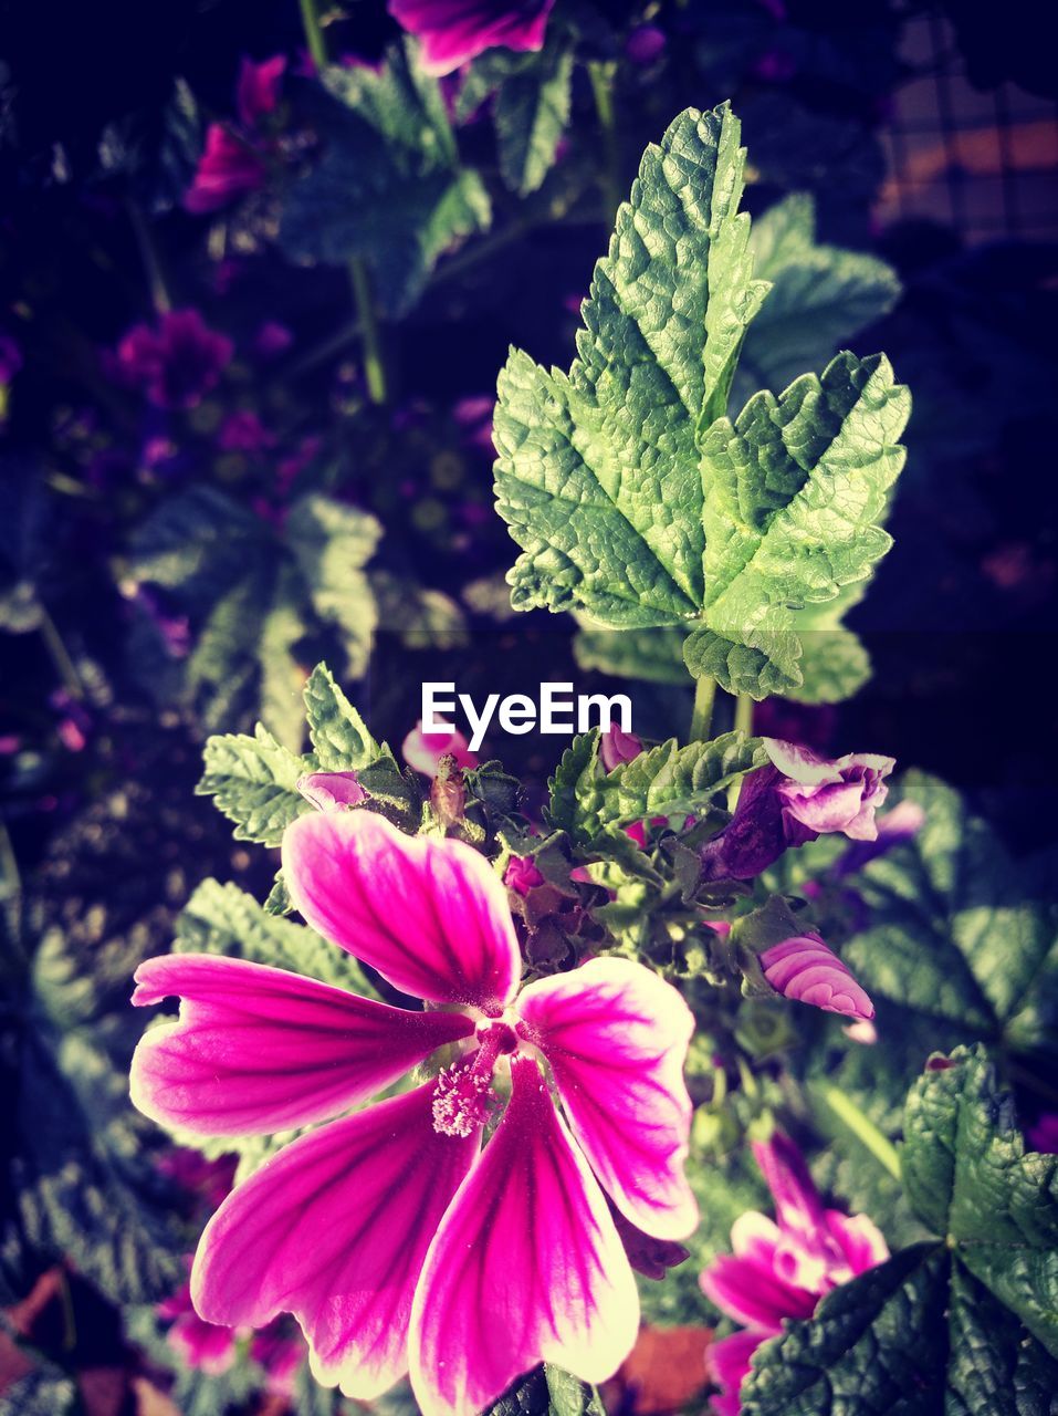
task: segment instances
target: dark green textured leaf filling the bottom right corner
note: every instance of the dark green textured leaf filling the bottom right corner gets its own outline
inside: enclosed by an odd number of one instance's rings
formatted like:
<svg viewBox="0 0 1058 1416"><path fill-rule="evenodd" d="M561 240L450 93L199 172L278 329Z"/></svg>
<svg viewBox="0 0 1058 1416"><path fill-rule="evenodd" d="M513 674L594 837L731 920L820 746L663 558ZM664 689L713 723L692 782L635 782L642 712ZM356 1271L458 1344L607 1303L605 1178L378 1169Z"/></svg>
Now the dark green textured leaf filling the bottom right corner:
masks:
<svg viewBox="0 0 1058 1416"><path fill-rule="evenodd" d="M983 1048L938 1065L908 1097L902 1167L939 1242L901 1250L810 1321L786 1324L754 1358L745 1416L1052 1412L1058 1161L1024 1154Z"/></svg>

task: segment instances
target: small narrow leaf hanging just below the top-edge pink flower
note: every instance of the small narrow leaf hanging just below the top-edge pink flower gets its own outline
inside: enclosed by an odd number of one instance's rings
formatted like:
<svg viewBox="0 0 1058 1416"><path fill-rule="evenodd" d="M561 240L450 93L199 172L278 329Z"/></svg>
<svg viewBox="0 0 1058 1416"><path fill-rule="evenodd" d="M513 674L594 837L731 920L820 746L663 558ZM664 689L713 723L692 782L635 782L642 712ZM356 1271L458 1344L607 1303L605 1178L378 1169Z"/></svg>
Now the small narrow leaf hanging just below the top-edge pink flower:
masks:
<svg viewBox="0 0 1058 1416"><path fill-rule="evenodd" d="M519 58L522 58L519 55ZM570 118L573 51L557 42L525 62L496 95L499 174L522 197L543 183Z"/></svg>

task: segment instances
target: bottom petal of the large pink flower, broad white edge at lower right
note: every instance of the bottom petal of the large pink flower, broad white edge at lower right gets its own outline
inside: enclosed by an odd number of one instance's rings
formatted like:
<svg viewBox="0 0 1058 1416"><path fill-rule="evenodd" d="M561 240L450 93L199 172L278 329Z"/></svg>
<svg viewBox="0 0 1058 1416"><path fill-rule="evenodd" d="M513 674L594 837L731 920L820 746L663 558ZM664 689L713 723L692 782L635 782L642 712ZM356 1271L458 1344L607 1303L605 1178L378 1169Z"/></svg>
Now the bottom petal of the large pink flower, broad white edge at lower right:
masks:
<svg viewBox="0 0 1058 1416"><path fill-rule="evenodd" d="M632 1270L603 1191L530 1058L495 1136L430 1246L412 1311L423 1416L474 1416L521 1372L612 1375L639 1327Z"/></svg>

